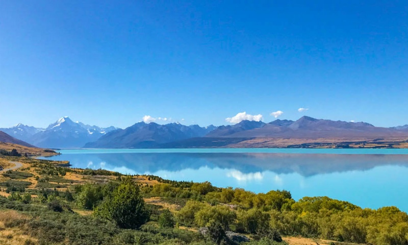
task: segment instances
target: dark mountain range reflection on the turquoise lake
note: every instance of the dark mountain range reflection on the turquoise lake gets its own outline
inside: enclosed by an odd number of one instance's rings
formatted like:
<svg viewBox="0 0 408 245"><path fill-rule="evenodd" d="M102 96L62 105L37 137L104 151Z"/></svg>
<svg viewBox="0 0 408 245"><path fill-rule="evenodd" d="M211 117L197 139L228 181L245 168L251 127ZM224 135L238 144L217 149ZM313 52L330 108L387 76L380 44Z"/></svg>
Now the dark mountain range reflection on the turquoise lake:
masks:
<svg viewBox="0 0 408 245"><path fill-rule="evenodd" d="M236 169L245 174L269 170L276 174L297 173L304 177L310 177L334 172L364 171L382 165L408 167L408 155L123 153L86 154L86 156L78 157L60 155L58 158L58 160L69 160L74 167L123 167L129 169L129 173L132 174L155 173L159 170L199 169L207 166L209 168Z"/></svg>

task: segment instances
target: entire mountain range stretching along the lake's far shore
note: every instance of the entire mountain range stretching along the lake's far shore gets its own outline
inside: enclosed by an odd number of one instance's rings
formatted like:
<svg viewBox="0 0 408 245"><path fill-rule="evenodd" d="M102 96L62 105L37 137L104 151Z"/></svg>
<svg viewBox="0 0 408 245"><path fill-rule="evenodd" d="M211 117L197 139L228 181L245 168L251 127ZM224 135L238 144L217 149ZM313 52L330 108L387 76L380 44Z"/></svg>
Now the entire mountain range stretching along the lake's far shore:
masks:
<svg viewBox="0 0 408 245"><path fill-rule="evenodd" d="M100 128L62 117L45 129L18 124L0 130L42 148L265 148L309 142L408 139L408 125L381 128L367 122L309 116L268 123L243 120L219 127L137 122L125 129Z"/></svg>

